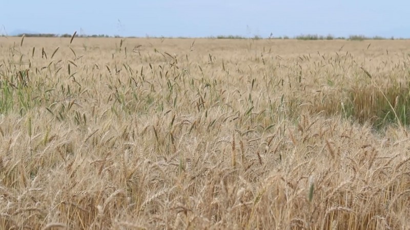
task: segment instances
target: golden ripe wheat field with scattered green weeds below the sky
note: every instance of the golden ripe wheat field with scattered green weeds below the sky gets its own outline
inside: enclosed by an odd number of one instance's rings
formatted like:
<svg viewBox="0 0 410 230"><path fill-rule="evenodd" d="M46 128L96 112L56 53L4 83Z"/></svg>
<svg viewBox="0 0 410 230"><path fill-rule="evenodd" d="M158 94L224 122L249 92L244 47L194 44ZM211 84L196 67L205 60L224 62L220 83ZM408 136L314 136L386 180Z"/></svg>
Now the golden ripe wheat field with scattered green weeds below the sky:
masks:
<svg viewBox="0 0 410 230"><path fill-rule="evenodd" d="M0 228L410 229L409 54L0 37Z"/></svg>

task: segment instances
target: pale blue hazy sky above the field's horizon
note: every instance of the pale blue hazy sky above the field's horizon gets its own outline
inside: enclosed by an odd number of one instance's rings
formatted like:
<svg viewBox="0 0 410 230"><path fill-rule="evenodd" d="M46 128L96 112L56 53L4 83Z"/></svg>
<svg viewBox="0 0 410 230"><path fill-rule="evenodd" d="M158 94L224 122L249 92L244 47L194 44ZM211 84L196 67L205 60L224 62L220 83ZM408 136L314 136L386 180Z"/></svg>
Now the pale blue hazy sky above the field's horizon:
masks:
<svg viewBox="0 0 410 230"><path fill-rule="evenodd" d="M0 0L0 34L410 38L408 0Z"/></svg>

